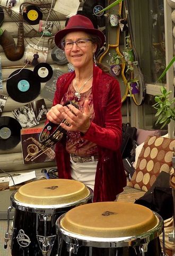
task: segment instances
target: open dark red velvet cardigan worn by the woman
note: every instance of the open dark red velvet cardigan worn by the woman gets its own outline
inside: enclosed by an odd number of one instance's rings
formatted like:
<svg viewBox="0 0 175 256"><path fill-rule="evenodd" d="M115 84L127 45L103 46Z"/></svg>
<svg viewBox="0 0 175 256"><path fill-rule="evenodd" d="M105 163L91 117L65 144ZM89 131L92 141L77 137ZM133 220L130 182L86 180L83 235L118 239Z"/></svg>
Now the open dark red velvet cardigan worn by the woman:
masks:
<svg viewBox="0 0 175 256"><path fill-rule="evenodd" d="M71 72L58 78L54 105L60 103L74 77L75 72ZM93 201L114 201L116 195L123 192L123 187L126 186L126 175L120 154L122 117L119 83L94 66L92 94L94 120L82 136L98 146L99 161ZM62 139L55 148L58 176L71 179L69 154L66 152L65 143Z"/></svg>

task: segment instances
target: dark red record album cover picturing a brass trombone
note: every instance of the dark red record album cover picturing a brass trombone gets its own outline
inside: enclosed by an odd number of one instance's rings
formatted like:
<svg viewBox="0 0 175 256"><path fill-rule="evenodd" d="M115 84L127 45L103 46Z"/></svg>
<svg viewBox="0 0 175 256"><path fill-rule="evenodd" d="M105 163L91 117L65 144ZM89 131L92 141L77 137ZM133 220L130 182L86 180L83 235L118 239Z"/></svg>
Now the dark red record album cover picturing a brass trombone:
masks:
<svg viewBox="0 0 175 256"><path fill-rule="evenodd" d="M42 127L21 130L23 163L39 163L55 160L55 152L39 142Z"/></svg>

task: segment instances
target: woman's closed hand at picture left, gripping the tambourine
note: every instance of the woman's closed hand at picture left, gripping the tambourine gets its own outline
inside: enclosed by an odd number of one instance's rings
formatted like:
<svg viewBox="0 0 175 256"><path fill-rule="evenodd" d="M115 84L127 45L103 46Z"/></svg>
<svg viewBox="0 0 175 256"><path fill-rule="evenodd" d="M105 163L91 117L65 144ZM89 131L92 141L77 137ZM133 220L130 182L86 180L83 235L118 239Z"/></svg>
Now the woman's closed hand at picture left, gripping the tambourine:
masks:
<svg viewBox="0 0 175 256"><path fill-rule="evenodd" d="M47 112L47 119L55 123L56 125L59 125L60 122L63 121L64 117L62 113L65 113L63 105L57 104L55 106L52 106L51 109Z"/></svg>

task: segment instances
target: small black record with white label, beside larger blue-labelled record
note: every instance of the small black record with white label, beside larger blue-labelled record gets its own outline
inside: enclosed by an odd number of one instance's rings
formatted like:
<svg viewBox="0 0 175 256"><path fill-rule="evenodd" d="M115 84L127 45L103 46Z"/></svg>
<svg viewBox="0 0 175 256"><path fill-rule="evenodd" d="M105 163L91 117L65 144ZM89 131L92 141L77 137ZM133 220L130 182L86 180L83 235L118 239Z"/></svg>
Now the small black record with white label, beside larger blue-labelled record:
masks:
<svg viewBox="0 0 175 256"><path fill-rule="evenodd" d="M48 63L39 63L33 69L34 75L40 82L47 82L53 75L52 67Z"/></svg>

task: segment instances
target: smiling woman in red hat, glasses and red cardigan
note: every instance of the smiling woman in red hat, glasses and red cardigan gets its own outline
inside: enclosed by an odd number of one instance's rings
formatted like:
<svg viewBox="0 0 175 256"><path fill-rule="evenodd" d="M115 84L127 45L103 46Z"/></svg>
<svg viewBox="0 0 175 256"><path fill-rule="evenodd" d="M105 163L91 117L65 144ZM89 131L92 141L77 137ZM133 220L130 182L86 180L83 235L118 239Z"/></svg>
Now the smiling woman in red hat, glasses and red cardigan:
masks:
<svg viewBox="0 0 175 256"><path fill-rule="evenodd" d="M126 186L120 154L121 96L118 81L97 67L94 54L103 33L82 15L72 16L55 43L65 49L75 71L58 78L47 119L60 124L66 138L56 144L59 178L76 179L94 189L94 202L113 201ZM78 102L63 106L67 101Z"/></svg>

